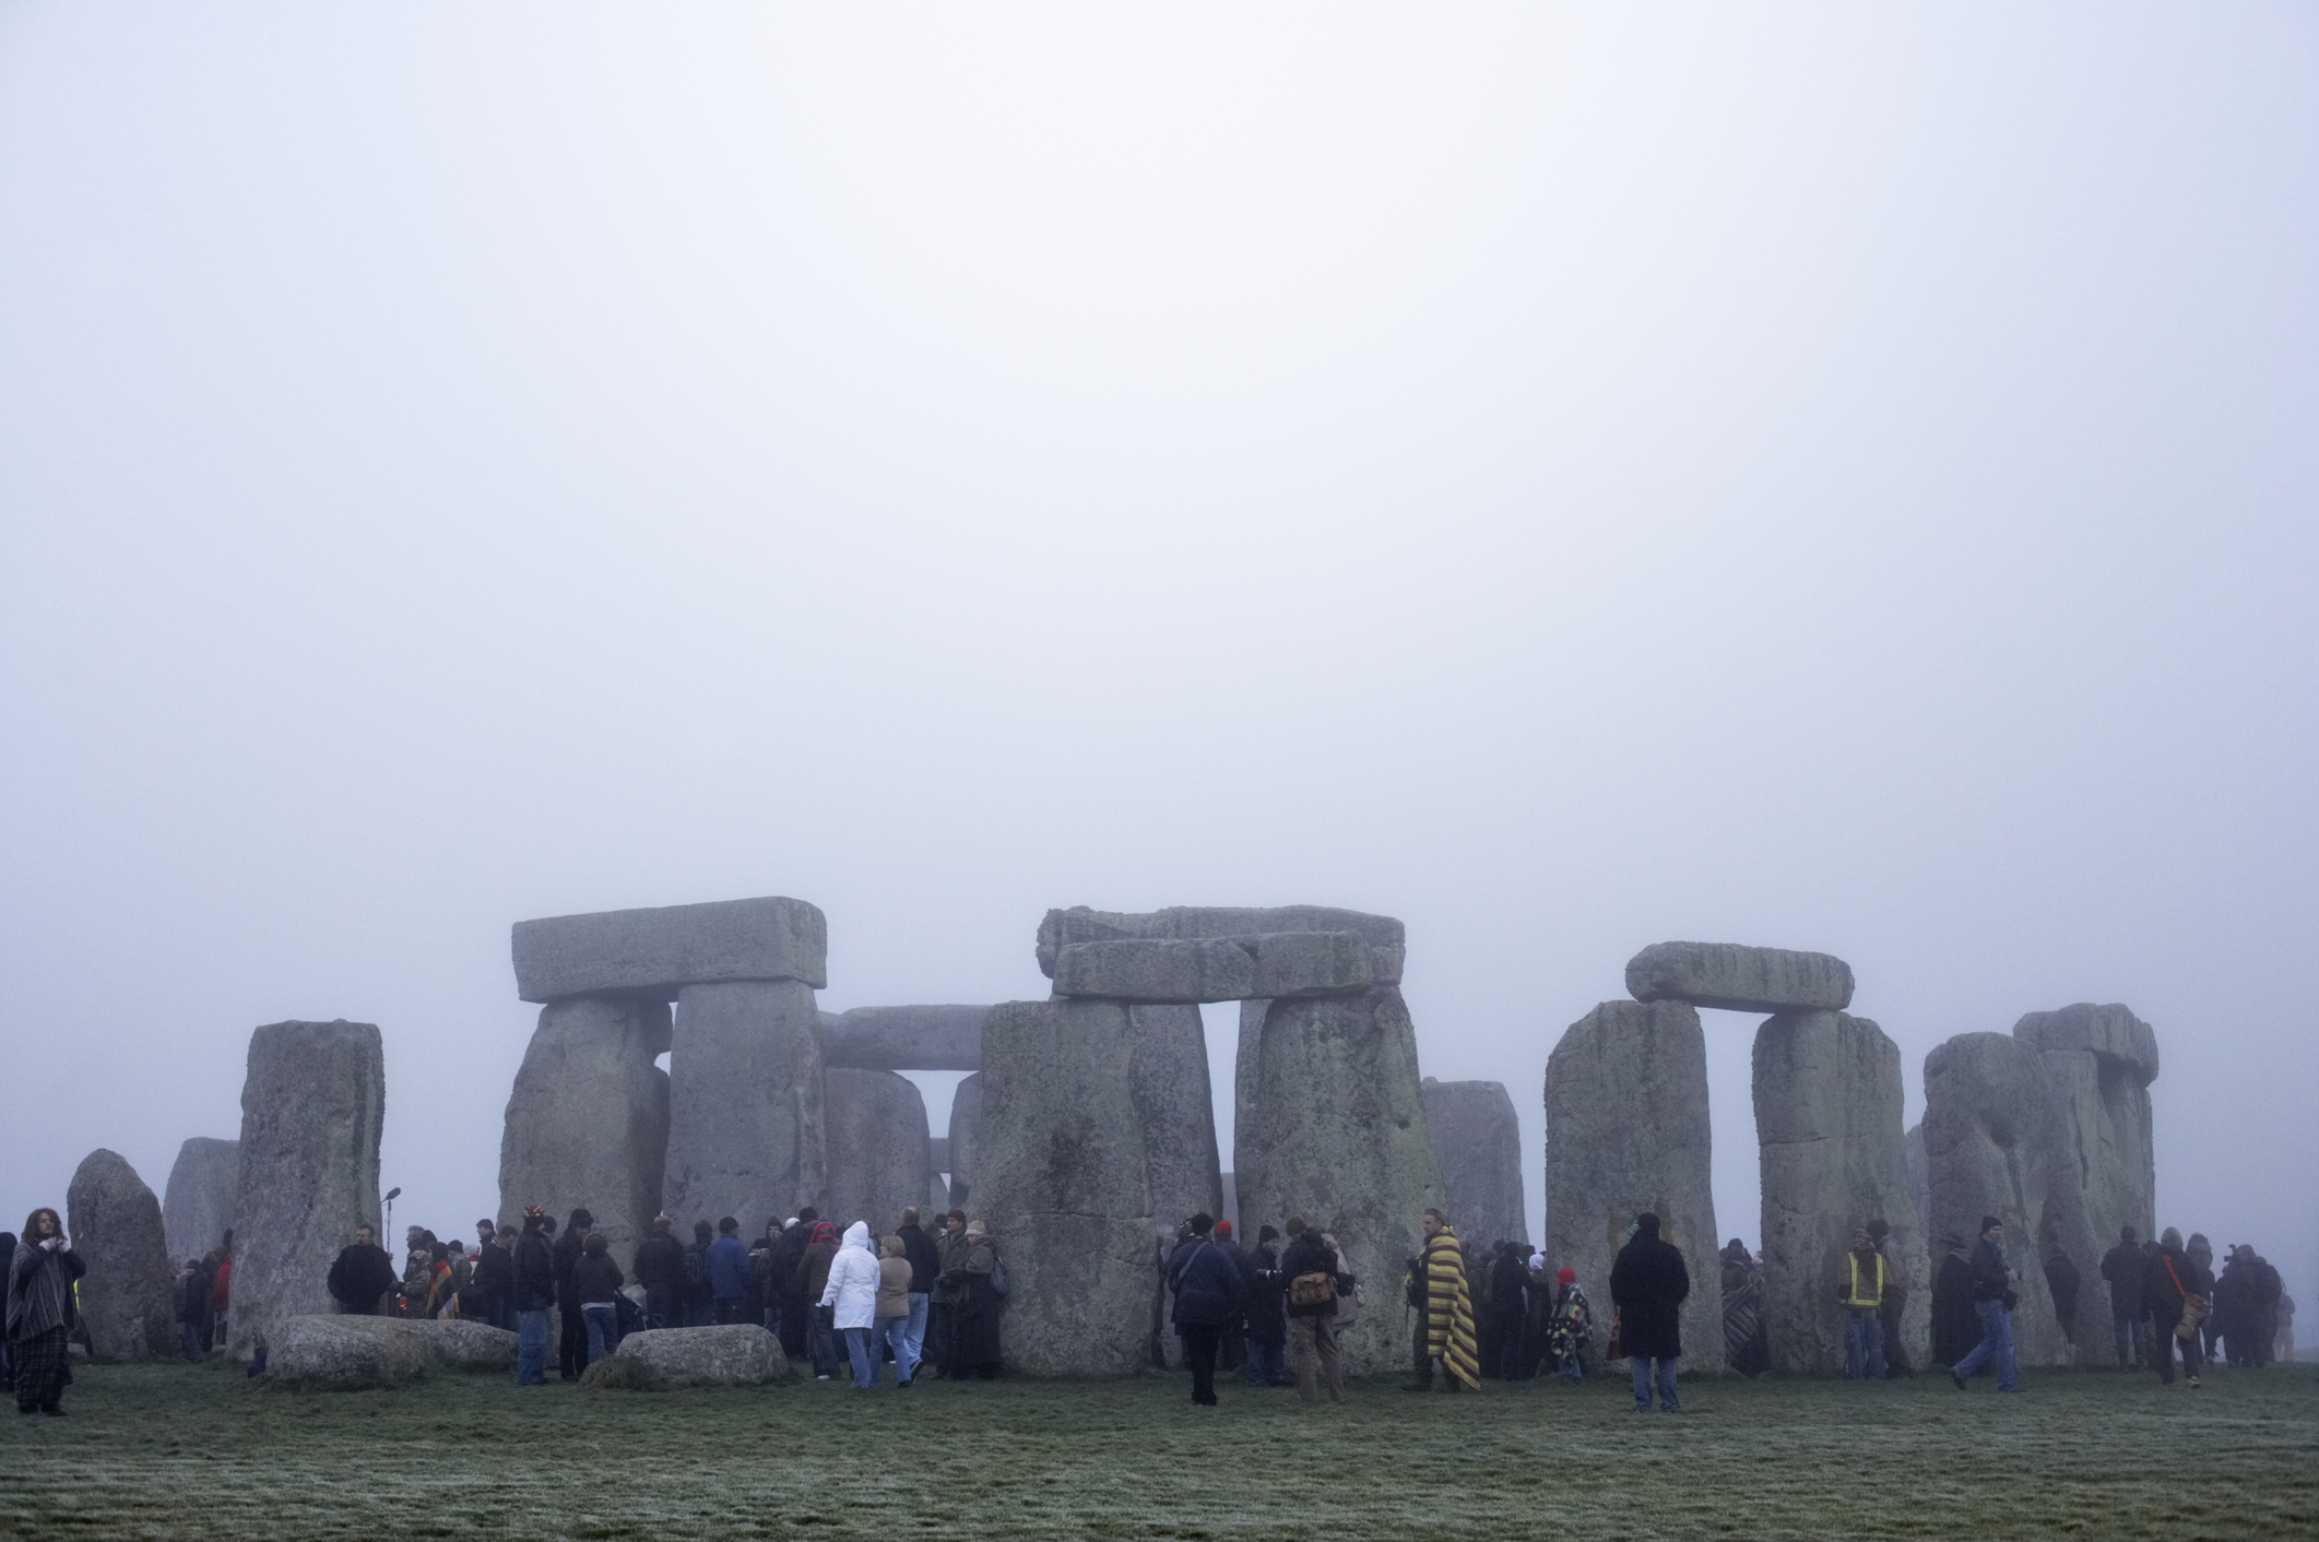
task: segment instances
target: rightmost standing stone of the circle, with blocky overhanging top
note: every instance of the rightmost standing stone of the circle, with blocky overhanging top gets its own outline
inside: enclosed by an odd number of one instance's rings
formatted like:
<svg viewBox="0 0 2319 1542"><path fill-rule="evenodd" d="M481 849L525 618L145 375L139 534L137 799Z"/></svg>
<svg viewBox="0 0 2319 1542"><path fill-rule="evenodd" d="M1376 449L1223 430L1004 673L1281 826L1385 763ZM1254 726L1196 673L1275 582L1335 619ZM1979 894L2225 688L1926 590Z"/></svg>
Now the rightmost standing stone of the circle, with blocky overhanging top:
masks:
<svg viewBox="0 0 2319 1542"><path fill-rule="evenodd" d="M2013 1025L2013 1037L2045 1064L2094 1238L2108 1248L2120 1227L2133 1227L2143 1238L2157 1236L2157 1150L2150 1127L2150 1083L2159 1074L2157 1034L2124 1006L2080 1002L2062 1011L2031 1011ZM2078 1268L2085 1273L2082 1259Z"/></svg>

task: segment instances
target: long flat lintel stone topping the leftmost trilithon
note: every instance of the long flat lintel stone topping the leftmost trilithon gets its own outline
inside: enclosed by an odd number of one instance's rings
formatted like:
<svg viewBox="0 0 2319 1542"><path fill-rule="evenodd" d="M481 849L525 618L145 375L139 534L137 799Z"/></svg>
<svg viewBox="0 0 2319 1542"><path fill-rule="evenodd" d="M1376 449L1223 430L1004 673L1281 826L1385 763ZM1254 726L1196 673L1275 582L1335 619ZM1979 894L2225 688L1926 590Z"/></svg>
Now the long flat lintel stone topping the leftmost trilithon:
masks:
<svg viewBox="0 0 2319 1542"><path fill-rule="evenodd" d="M828 985L828 923L805 900L719 900L517 921L515 995L659 995L721 981Z"/></svg>

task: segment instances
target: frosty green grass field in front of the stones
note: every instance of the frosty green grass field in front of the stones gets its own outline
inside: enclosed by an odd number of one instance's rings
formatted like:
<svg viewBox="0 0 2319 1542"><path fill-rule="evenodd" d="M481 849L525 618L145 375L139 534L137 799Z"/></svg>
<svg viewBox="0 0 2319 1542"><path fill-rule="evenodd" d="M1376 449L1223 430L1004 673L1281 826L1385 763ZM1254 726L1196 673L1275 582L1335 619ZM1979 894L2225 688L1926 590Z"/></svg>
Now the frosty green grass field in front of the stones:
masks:
<svg viewBox="0 0 2319 1542"><path fill-rule="evenodd" d="M2319 1368L1491 1384L1345 1408L1180 1377L621 1394L257 1391L79 1368L0 1412L9 1537L2314 1537Z"/></svg>

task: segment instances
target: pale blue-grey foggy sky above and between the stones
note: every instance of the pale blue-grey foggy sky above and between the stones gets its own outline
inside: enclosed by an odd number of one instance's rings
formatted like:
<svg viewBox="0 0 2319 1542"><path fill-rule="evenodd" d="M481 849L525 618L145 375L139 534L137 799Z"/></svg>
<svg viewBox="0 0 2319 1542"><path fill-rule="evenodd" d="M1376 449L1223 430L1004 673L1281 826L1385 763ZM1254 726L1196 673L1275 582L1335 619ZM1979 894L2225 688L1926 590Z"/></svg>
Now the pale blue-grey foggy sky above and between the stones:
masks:
<svg viewBox="0 0 2319 1542"><path fill-rule="evenodd" d="M1911 1120L2127 1002L2159 1222L2310 1301L2314 86L2289 5L0 9L0 1224L346 1016L464 1231L526 916L812 900L835 1011L1315 902L1533 1227L1563 1027L1751 941Z"/></svg>

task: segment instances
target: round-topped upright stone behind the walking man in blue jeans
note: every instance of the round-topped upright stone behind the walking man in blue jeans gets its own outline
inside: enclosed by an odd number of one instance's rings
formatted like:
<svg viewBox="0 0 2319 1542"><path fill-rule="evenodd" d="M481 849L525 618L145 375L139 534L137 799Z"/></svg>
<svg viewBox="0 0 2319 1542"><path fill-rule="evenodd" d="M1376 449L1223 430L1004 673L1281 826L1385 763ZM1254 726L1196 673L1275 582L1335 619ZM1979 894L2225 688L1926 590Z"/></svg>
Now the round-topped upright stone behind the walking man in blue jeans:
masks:
<svg viewBox="0 0 2319 1542"><path fill-rule="evenodd" d="M2064 1115L2029 1043L2011 1034L1957 1034L1925 1055L1925 1169L1934 1236L1953 1231L1971 1243L1983 1215L2006 1224L2006 1257L2020 1271L2013 1310L2020 1363L2071 1363L2043 1261L2062 1248L2078 1264L2082 1331L2103 1317L2099 1264L2108 1243L2087 1224Z"/></svg>

